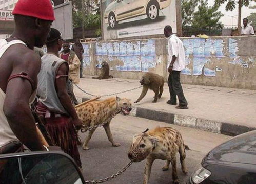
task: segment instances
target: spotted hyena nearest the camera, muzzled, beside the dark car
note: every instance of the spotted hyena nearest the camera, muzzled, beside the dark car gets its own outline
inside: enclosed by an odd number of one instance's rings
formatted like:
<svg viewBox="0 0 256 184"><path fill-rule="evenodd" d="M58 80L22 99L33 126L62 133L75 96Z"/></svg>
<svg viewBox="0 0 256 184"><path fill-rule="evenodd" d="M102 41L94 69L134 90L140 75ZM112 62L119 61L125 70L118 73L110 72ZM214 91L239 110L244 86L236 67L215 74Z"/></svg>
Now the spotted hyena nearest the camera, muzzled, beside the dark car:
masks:
<svg viewBox="0 0 256 184"><path fill-rule="evenodd" d="M141 134L135 134L130 147L128 157L133 162L141 162L147 159L144 170L143 184L147 184L151 172L151 166L155 159L167 160L166 165L162 168L163 171L169 169L172 165L173 183L179 183L176 169L176 153L180 153L180 161L182 172L187 174L185 166L185 147L181 133L171 127L156 127L150 131L145 131Z"/></svg>

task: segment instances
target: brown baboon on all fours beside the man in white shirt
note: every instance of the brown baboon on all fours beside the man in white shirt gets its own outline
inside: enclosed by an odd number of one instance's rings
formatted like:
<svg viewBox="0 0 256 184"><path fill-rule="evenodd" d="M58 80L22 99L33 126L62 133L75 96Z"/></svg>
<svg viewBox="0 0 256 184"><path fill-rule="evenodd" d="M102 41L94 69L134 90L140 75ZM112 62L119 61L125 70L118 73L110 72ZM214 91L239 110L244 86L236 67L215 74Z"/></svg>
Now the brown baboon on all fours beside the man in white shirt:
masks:
<svg viewBox="0 0 256 184"><path fill-rule="evenodd" d="M143 85L141 96L134 103L140 102L147 94L148 89L151 89L154 91L155 95L152 103L156 103L157 98L161 98L163 94L164 82L165 82L164 77L158 74L154 74L151 72L144 74L142 76L142 79L140 80L141 85Z"/></svg>

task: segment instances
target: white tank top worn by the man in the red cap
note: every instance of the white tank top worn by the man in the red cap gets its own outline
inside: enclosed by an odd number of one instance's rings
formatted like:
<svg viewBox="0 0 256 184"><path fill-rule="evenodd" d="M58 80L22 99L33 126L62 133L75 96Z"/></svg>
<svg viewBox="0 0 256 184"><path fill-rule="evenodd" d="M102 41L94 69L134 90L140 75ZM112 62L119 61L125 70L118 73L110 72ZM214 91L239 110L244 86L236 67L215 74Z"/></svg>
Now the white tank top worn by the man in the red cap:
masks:
<svg viewBox="0 0 256 184"><path fill-rule="evenodd" d="M14 45L14 44L26 45L24 42L19 40L13 40L13 41L7 42L5 39L0 39L0 58L5 53L5 51L11 45ZM17 140L17 137L14 135L13 131L11 130L10 125L3 112L4 101L5 101L5 93L0 88L0 147L13 140Z"/></svg>

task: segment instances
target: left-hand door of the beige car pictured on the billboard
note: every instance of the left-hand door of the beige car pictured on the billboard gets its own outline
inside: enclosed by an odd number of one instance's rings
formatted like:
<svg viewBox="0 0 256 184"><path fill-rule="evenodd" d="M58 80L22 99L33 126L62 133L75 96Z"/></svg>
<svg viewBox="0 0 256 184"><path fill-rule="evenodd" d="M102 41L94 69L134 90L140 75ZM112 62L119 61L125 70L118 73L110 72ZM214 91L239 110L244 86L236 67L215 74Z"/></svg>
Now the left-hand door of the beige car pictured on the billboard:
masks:
<svg viewBox="0 0 256 184"><path fill-rule="evenodd" d="M116 2L116 16L117 20L128 18L132 14L133 7L132 0L117 0Z"/></svg>

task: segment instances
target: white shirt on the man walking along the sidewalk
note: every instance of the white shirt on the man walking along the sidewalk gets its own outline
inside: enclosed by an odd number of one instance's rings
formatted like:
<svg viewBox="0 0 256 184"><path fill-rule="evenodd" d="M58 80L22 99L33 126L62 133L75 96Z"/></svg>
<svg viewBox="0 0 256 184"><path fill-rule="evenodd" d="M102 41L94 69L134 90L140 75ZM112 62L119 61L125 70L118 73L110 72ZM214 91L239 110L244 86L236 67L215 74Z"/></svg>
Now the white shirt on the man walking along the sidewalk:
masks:
<svg viewBox="0 0 256 184"><path fill-rule="evenodd" d="M173 71L182 71L185 68L185 50L182 40L175 34L171 35L168 40L168 53L169 64L171 63L172 56L177 57L173 64Z"/></svg>

